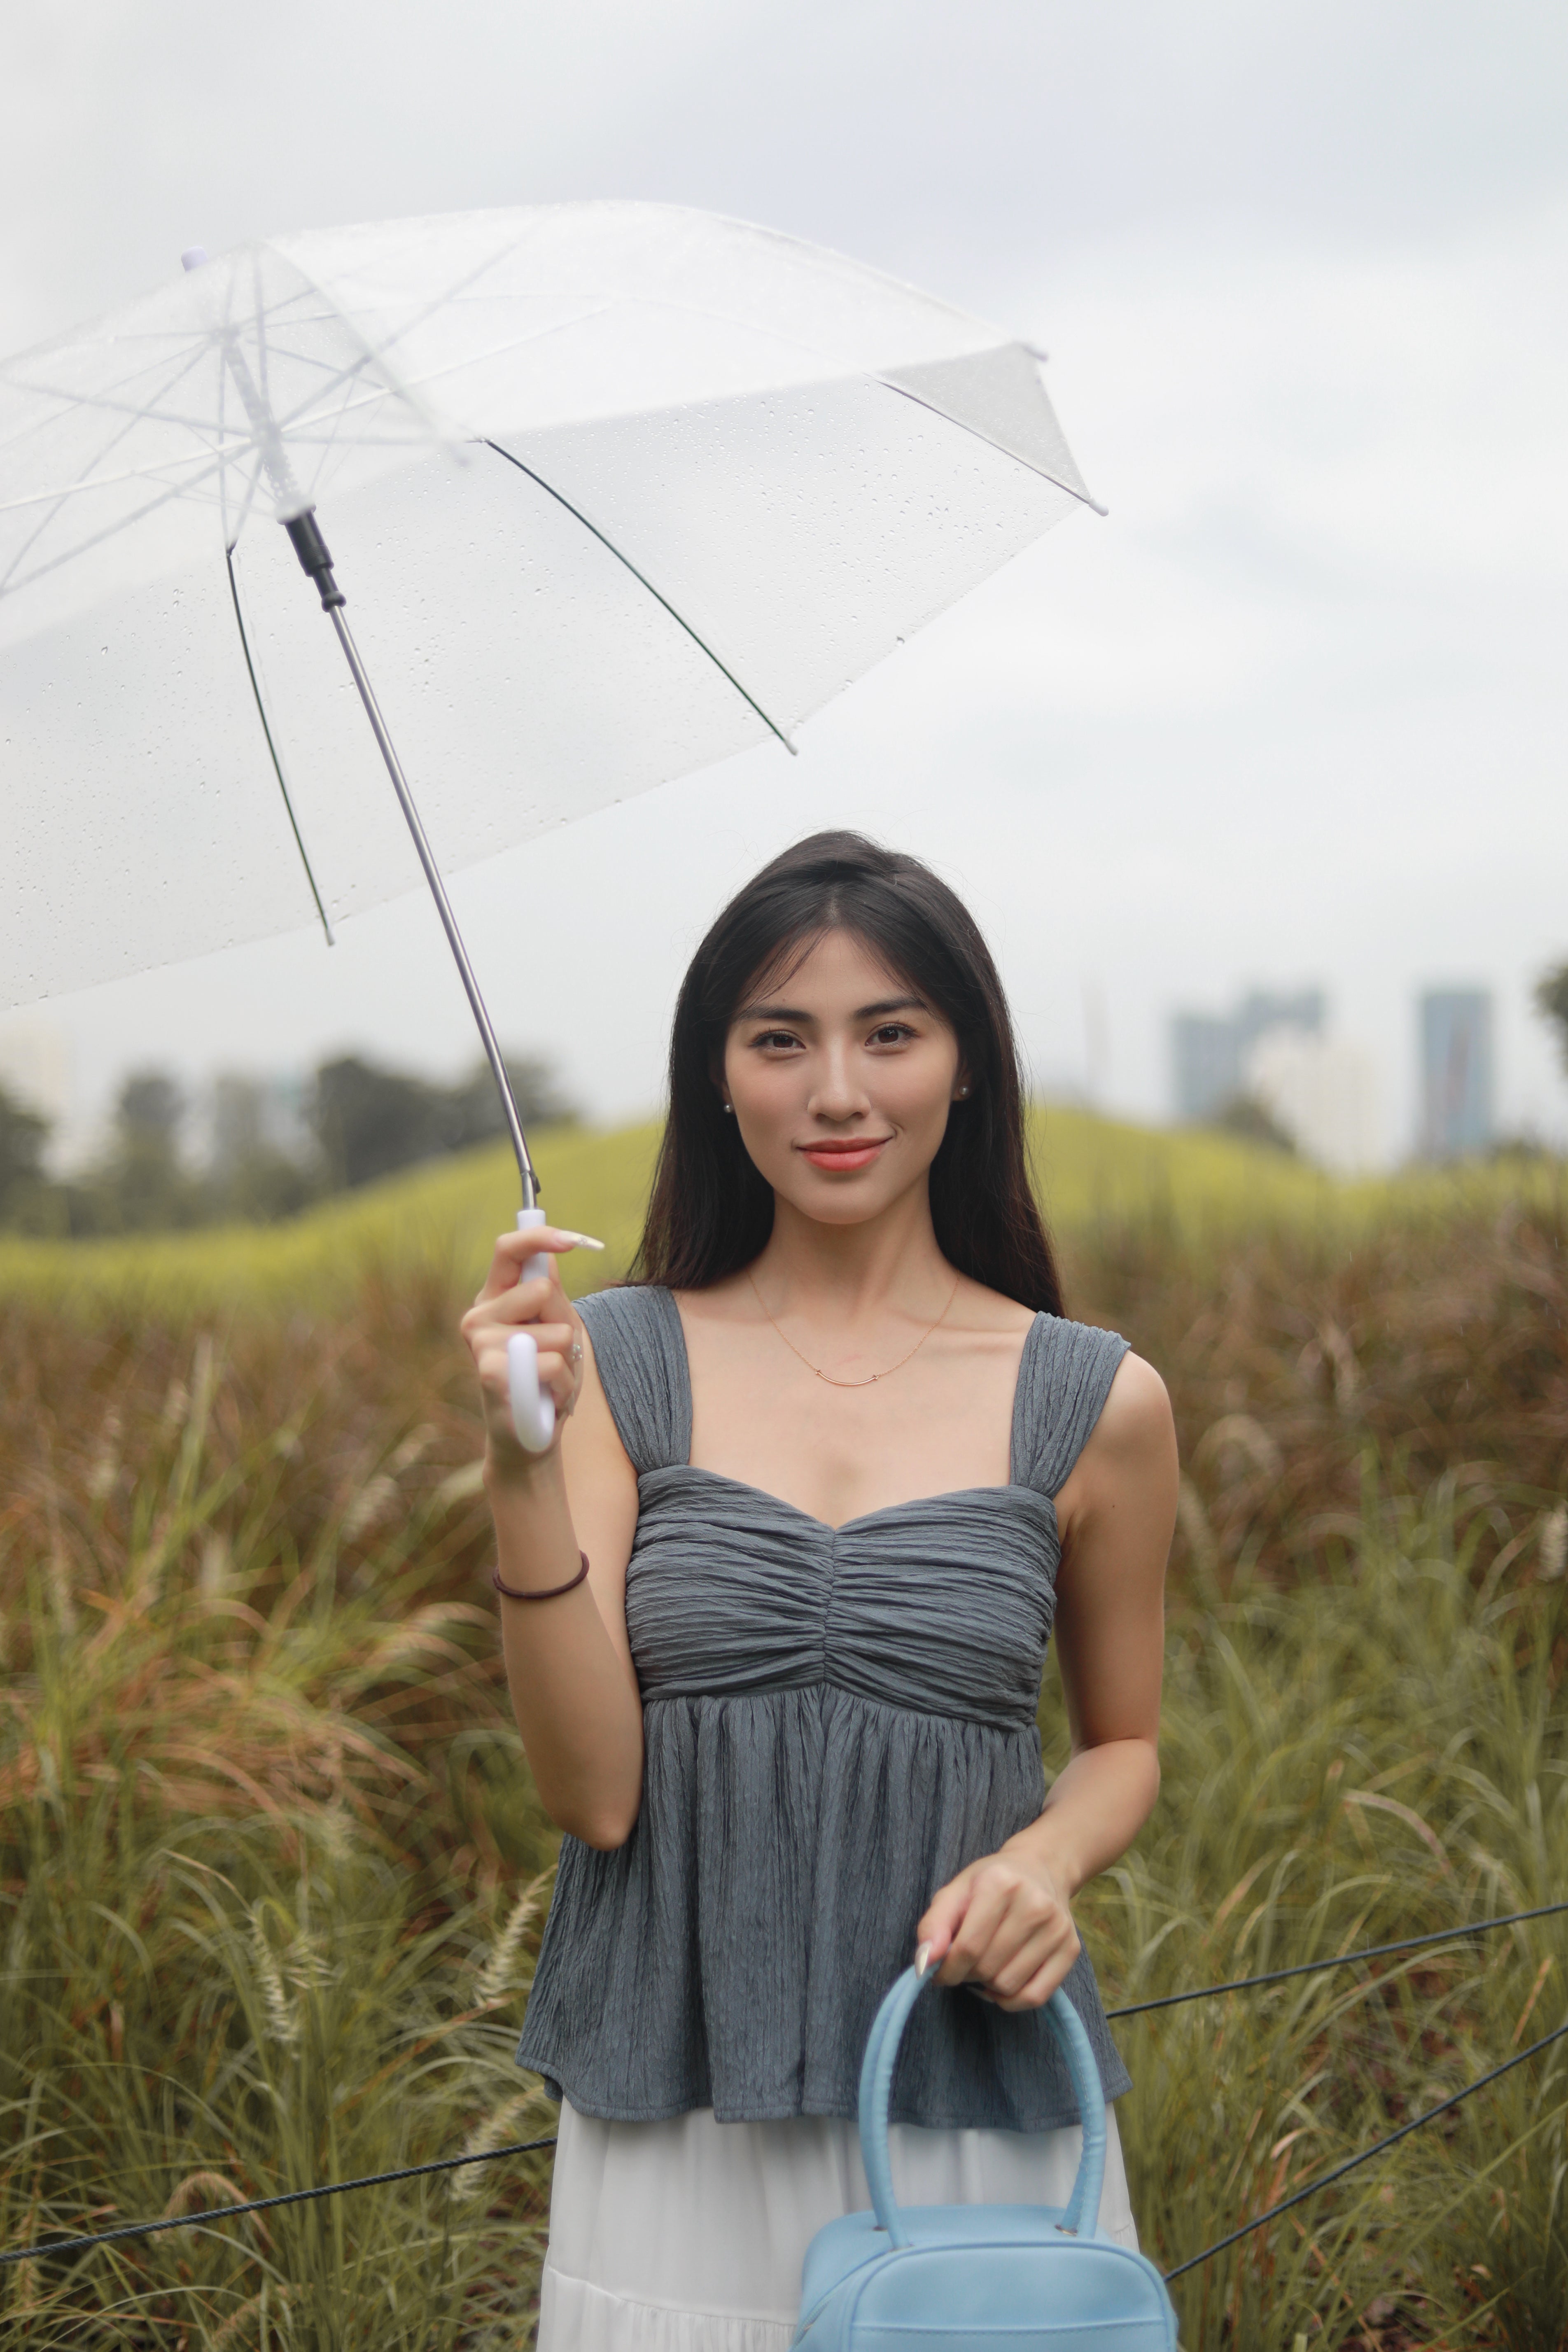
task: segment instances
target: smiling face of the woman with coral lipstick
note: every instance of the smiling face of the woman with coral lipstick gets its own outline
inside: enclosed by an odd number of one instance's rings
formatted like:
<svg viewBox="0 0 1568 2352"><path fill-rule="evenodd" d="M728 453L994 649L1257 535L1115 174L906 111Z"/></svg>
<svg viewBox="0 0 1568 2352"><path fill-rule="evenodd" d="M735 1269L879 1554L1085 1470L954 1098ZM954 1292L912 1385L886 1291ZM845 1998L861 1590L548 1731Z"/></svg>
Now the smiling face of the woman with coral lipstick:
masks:
<svg viewBox="0 0 1568 2352"><path fill-rule="evenodd" d="M858 1225L924 1181L964 1084L952 1028L851 931L748 997L724 1101L780 1200Z"/></svg>

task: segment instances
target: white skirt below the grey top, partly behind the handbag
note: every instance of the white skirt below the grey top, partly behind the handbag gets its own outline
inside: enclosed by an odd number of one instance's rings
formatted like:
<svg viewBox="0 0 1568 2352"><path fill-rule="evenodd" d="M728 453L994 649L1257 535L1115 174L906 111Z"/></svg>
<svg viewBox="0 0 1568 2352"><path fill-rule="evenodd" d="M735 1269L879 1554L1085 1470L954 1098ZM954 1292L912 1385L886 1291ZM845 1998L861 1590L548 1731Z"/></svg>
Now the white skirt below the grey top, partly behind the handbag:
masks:
<svg viewBox="0 0 1568 2352"><path fill-rule="evenodd" d="M1117 2114L1105 2110L1100 2230L1138 2246ZM1084 2133L893 2124L900 2204L1065 2206ZM602 2124L562 2100L538 2352L785 2352L806 2244L870 2211L860 2136L842 2117Z"/></svg>

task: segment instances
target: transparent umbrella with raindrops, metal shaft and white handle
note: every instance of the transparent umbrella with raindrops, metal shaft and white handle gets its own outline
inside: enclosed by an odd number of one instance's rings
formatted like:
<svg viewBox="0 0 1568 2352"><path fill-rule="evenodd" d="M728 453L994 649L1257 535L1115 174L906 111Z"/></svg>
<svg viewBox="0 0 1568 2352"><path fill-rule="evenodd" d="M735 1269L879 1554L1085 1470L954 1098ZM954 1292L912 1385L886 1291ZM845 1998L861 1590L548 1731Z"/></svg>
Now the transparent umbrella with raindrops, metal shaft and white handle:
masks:
<svg viewBox="0 0 1568 2352"><path fill-rule="evenodd" d="M423 873L536 1223L442 870L792 748L1081 503L1027 346L736 221L186 254L0 367L0 1004Z"/></svg>

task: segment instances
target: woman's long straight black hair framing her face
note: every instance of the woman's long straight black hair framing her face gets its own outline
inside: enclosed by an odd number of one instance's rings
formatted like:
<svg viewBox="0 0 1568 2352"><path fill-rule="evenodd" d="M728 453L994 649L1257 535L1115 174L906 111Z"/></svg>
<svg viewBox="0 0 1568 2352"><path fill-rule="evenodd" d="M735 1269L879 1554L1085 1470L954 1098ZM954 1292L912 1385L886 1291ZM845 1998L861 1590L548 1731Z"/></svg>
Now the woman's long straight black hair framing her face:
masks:
<svg viewBox="0 0 1568 2352"><path fill-rule="evenodd" d="M1001 981L969 908L919 858L860 833L813 833L741 889L691 957L670 1030L670 1117L635 1282L701 1291L750 1265L773 1230L773 1188L715 1084L736 1009L823 931L860 938L957 1035L969 1096L931 1162L936 1244L959 1272L1025 1308L1063 1312L1030 1185L1023 1080Z"/></svg>

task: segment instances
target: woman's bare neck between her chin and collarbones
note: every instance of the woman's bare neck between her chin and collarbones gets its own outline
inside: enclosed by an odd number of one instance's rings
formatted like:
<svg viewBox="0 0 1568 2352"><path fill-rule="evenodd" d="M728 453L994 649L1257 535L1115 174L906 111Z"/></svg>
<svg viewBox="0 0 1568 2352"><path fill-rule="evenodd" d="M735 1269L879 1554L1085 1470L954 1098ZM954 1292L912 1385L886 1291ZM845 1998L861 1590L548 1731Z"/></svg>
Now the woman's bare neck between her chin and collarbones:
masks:
<svg viewBox="0 0 1568 2352"><path fill-rule="evenodd" d="M825 1225L776 1200L773 1232L752 1275L776 1315L835 1324L856 1324L884 1308L936 1315L952 1289L924 1178L858 1225Z"/></svg>

